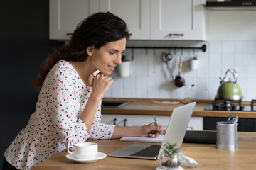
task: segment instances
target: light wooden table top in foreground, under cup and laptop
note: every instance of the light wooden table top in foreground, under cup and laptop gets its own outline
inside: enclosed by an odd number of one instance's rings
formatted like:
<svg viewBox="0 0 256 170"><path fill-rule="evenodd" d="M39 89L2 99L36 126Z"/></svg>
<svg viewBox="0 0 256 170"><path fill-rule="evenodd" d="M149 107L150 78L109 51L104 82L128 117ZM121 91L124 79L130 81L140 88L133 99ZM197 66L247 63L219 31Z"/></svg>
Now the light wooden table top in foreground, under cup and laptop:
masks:
<svg viewBox="0 0 256 170"><path fill-rule="evenodd" d="M110 154L133 142L120 142L119 140L88 140L87 142L97 142L99 152ZM238 150L230 152L228 150L216 149L212 144L183 143L182 152L198 162L198 167L193 168L182 163L183 169L256 169L256 132L238 132ZM156 169L159 166L158 160L127 159L106 157L90 164L80 164L73 162L63 151L47 159L45 162L35 166L33 170L80 170L80 169Z"/></svg>

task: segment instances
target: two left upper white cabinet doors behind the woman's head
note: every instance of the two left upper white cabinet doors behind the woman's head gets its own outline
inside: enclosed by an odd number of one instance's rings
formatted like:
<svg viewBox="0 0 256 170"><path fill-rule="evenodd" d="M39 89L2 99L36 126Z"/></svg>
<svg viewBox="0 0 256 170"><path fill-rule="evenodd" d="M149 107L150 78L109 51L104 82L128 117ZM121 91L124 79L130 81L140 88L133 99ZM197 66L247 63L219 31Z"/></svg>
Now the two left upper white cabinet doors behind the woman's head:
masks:
<svg viewBox="0 0 256 170"><path fill-rule="evenodd" d="M126 21L131 39L149 39L148 0L50 0L50 39L69 40L82 19L99 11L110 11Z"/></svg>

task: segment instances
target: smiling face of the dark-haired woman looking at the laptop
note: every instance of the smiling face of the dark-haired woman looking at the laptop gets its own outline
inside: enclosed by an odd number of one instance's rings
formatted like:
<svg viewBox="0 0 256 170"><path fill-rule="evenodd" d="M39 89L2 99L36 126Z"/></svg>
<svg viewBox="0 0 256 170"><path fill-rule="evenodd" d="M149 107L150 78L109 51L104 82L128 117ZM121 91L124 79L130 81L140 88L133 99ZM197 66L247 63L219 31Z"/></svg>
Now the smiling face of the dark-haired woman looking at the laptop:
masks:
<svg viewBox="0 0 256 170"><path fill-rule="evenodd" d="M92 64L102 74L110 75L117 64L122 64L122 52L125 50L126 38L108 42L107 45L92 50Z"/></svg>

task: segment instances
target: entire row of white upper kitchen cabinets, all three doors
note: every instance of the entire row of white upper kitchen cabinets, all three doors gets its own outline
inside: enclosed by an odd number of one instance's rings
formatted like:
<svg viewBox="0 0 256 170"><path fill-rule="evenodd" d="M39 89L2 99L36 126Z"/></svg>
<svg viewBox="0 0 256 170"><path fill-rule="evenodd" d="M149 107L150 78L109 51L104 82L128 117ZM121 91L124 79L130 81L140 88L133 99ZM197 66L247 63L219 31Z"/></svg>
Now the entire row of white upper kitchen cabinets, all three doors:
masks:
<svg viewBox="0 0 256 170"><path fill-rule="evenodd" d="M50 39L70 39L75 26L98 11L122 18L131 40L206 38L203 0L50 0Z"/></svg>

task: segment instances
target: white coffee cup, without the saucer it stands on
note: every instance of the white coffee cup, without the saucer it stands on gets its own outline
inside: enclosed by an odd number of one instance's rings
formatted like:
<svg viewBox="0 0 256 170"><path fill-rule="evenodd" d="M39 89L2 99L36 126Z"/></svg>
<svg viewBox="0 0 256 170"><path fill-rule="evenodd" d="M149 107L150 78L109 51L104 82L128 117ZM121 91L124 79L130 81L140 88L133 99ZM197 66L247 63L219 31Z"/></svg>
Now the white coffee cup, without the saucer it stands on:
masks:
<svg viewBox="0 0 256 170"><path fill-rule="evenodd" d="M74 147L74 151L70 151L70 147ZM74 146L68 146L68 153L75 154L78 159L93 158L97 154L97 143L95 142L82 142Z"/></svg>

